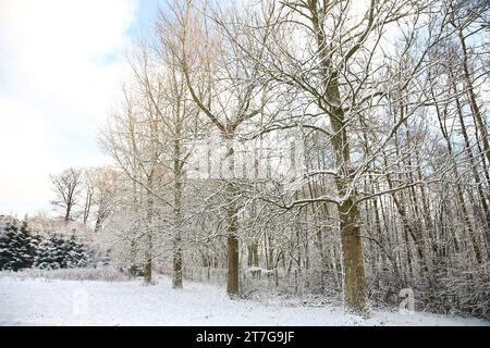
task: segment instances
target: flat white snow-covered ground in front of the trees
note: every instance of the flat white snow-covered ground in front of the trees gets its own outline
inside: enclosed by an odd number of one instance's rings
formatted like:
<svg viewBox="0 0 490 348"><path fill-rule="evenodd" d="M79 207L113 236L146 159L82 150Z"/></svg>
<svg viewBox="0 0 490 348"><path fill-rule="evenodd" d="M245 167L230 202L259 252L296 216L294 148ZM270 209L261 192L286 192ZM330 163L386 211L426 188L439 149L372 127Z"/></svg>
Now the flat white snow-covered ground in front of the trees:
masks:
<svg viewBox="0 0 490 348"><path fill-rule="evenodd" d="M186 282L173 290L160 276L140 281L0 277L0 325L490 325L444 315L375 312L369 320L334 307L230 300L224 289Z"/></svg>

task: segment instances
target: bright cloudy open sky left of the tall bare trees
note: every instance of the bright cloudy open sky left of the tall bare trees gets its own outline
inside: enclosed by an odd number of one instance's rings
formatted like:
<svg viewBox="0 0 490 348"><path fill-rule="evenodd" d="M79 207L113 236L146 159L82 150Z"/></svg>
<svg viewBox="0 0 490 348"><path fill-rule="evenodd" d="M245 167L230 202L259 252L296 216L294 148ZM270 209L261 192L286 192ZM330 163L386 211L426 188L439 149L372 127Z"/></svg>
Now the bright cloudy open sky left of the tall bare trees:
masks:
<svg viewBox="0 0 490 348"><path fill-rule="evenodd" d="M49 174L110 163L97 129L158 0L0 0L0 214L51 210Z"/></svg>

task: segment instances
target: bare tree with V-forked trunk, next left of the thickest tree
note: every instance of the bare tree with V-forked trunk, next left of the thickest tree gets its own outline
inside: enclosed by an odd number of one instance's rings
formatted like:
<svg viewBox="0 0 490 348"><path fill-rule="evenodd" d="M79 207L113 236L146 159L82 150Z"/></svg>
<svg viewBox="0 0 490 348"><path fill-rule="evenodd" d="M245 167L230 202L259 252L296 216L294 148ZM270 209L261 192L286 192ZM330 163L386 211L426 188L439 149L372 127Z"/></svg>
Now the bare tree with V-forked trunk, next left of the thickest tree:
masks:
<svg viewBox="0 0 490 348"><path fill-rule="evenodd" d="M174 2L172 15L162 15L160 37L173 53L185 77L192 100L225 141L228 178L235 173L233 141L237 128L258 115L264 105L266 86L255 78L255 66L237 55L233 42L209 24L192 2ZM206 9L204 9L206 11ZM196 45L200 42L200 45ZM232 183L225 185L228 231L228 284L230 296L240 293L238 274L238 194Z"/></svg>

